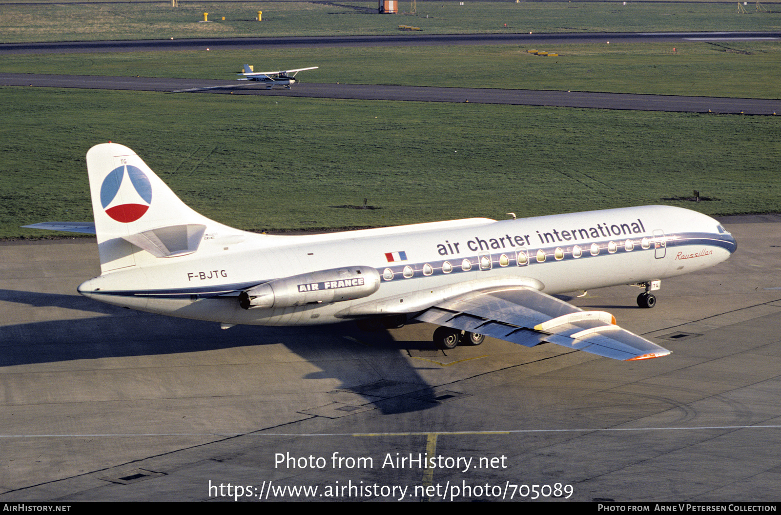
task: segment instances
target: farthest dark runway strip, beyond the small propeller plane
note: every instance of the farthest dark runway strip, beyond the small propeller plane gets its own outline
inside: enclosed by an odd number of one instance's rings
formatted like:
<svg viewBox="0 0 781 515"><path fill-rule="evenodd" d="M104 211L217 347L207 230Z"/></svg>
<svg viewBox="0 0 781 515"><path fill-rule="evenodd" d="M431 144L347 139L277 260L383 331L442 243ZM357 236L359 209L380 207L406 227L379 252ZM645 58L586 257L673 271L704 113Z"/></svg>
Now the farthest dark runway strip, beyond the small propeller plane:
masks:
<svg viewBox="0 0 781 515"><path fill-rule="evenodd" d="M578 43L651 43L683 41L757 41L781 39L779 31L755 32L596 32L551 34L393 34L385 36L316 36L291 38L161 39L7 43L4 54L72 52L165 52L217 49L336 48L416 45L565 45Z"/></svg>

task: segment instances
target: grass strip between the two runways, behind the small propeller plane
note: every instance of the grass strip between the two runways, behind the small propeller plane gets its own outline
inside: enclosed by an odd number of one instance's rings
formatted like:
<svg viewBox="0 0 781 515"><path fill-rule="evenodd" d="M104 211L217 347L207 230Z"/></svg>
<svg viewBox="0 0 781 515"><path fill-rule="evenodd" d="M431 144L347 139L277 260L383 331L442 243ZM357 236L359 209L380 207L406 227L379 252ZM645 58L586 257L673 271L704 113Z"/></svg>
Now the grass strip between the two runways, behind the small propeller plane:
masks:
<svg viewBox="0 0 781 515"><path fill-rule="evenodd" d="M5 55L0 72L233 79L255 70L319 66L307 82L781 97L781 43L554 45L540 57L517 45L296 48L257 51Z"/></svg>

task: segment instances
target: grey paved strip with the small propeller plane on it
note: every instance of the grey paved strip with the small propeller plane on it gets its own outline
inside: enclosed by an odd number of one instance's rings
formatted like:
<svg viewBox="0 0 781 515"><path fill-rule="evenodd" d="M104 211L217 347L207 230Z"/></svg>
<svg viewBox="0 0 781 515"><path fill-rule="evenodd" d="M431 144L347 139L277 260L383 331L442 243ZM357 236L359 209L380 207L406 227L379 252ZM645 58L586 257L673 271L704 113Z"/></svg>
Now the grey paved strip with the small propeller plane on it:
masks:
<svg viewBox="0 0 781 515"><path fill-rule="evenodd" d="M98 77L0 73L0 84L38 88L86 88L133 91L175 91L195 88L200 93L270 95L312 98L357 98L415 102L472 102L519 106L557 106L591 109L637 109L687 113L771 115L781 113L781 100L764 98L629 95L589 91L535 91L490 88L435 88L373 84L295 84L290 90L239 83L237 80L169 79L154 77ZM184 93L181 93L184 95Z"/></svg>

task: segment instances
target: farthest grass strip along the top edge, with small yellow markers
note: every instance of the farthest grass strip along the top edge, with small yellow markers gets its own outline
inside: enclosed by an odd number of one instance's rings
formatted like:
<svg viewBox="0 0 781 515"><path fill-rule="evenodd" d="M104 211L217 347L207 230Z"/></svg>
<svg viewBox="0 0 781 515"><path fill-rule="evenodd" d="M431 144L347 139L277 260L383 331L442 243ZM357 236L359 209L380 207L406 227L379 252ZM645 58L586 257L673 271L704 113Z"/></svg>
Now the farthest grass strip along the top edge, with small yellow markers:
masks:
<svg viewBox="0 0 781 515"><path fill-rule="evenodd" d="M738 13L735 2L419 2L417 16L380 15L376 2L0 4L0 43L166 38L284 37L635 30L779 30L781 5ZM401 2L409 10L408 2ZM262 11L262 22L257 12ZM198 23L209 13L210 23ZM222 18L225 17L223 21ZM506 24L506 26L505 26ZM416 33L417 34L417 33Z"/></svg>

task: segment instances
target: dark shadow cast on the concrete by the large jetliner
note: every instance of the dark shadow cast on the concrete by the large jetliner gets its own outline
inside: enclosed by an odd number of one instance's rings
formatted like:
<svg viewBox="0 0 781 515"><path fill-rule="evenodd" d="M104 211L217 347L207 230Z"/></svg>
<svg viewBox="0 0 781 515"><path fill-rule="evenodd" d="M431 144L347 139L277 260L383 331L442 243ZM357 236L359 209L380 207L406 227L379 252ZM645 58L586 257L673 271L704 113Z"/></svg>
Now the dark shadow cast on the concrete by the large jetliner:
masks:
<svg viewBox="0 0 781 515"><path fill-rule="evenodd" d="M301 377L302 392L307 390L308 379L333 377L343 385L332 392L335 399L341 394L357 399L357 394L366 401L362 406L380 409L381 413L407 413L437 406L435 402L421 400L433 396L436 385L428 384L400 356L400 351L405 349L433 349L433 342L398 342L384 330L363 332L352 323L314 327L234 326L222 330L214 322L141 313L76 295L0 290L0 300L109 315L0 326L0 367L285 345L320 369ZM196 359L201 358L196 356ZM383 363L391 373L380 374L379 381L371 373L375 379L356 384L366 381L366 365L361 363L360 370L345 367L346 361L355 359Z"/></svg>

